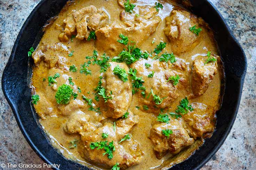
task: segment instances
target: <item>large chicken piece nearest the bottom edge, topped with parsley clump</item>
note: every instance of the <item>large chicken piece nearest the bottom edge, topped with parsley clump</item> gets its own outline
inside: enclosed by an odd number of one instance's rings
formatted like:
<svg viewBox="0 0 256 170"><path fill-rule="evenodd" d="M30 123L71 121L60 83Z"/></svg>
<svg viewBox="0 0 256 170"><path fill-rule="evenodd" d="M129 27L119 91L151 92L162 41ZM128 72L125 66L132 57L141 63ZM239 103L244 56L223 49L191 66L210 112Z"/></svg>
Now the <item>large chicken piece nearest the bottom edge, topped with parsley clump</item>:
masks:
<svg viewBox="0 0 256 170"><path fill-rule="evenodd" d="M80 133L82 142L78 145L78 151L86 160L96 164L106 165L112 167L117 162L120 168L128 168L132 165L138 164L142 159L142 152L139 149L139 143L132 138L121 143L119 141L129 133L131 128L138 123L138 116L134 116L129 111L129 116L126 119L116 121L116 126L112 122L106 122L102 127L91 131L91 133ZM108 134L108 137L102 139L102 133ZM108 141L114 142L115 151L113 151L113 158L108 159L108 154L103 149L91 149L92 142Z"/></svg>

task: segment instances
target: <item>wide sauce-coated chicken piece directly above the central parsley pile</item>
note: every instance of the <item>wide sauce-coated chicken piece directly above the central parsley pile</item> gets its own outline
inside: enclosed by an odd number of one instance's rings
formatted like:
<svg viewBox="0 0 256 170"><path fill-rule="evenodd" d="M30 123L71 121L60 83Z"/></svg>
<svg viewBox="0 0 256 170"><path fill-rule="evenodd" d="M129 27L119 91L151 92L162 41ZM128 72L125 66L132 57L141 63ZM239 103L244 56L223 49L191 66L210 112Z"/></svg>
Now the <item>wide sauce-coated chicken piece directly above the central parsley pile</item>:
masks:
<svg viewBox="0 0 256 170"><path fill-rule="evenodd" d="M130 13L127 15L134 16L134 14ZM106 51L110 56L116 56L124 49L124 44L117 42L119 34L127 36L129 41L133 41L137 46L140 46L156 31L160 22L160 17L152 17L150 19L143 19L142 22L134 21L129 27L116 24L97 29L95 31L97 37L95 42L96 48Z"/></svg>

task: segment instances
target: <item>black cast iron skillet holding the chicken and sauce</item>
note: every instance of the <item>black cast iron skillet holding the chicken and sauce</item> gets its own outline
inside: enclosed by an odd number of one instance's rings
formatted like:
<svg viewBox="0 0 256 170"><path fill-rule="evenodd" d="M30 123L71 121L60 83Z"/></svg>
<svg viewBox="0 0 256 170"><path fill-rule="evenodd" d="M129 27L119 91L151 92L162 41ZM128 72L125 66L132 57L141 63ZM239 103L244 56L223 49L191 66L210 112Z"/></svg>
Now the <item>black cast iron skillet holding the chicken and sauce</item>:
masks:
<svg viewBox="0 0 256 170"><path fill-rule="evenodd" d="M17 36L9 61L2 75L2 90L13 110L14 116L26 140L33 150L48 164L61 164L60 169L88 169L61 156L47 141L38 126L34 109L31 107L28 50L36 48L43 35L42 27L47 20L56 16L66 0L42 0L31 12ZM224 62L226 88L222 108L217 114L216 130L211 138L186 161L171 169L200 169L220 148L234 123L241 99L247 61L238 41L228 28L219 11L207 0L191 0L194 14L209 23L215 32L219 50ZM36 38L36 37L39 37Z"/></svg>

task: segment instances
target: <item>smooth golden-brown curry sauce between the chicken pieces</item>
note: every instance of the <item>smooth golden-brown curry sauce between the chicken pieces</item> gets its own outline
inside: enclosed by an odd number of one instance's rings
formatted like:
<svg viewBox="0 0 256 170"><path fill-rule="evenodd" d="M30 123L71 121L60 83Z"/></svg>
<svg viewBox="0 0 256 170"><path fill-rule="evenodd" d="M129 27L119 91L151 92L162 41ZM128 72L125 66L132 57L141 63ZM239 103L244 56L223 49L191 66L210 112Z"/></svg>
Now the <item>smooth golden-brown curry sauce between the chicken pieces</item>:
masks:
<svg viewBox="0 0 256 170"><path fill-rule="evenodd" d="M166 38L163 32L163 28L165 27L165 20L164 18L166 16L170 15L170 11L176 7L176 3L171 1L161 1L164 8L160 10L159 16L162 19L162 22L158 25L157 30L154 34L150 35L148 40L145 41L139 48L142 51L153 51L157 44L159 44L161 41L167 42L167 45L164 49L164 51L167 51L171 53L171 47L169 45L169 40ZM150 5L154 6L155 1L154 0L148 0L148 1L142 1L138 0L136 5ZM57 25L62 25L63 20L67 18L68 14L75 9L80 9L82 7L93 5L96 8L102 8L106 10L110 16L110 22L121 22L119 20L119 14L123 8L119 6L116 2L116 0L113 1L106 1L106 0L97 0L97 1L91 1L91 0L77 0L74 3L71 3L71 5L66 6L63 8L63 10L60 12L58 17L54 20L53 24L47 26L45 29L45 34L43 35L40 43L38 46L42 46L44 44L52 44L60 42L58 39L58 35L60 34L60 30L56 29ZM179 6L180 8L181 6ZM203 30L207 30L208 28L202 28ZM202 39L200 43L191 51L181 53L180 55L176 56L177 58L184 59L186 62L189 62L192 67L193 58L196 56L206 56L205 51L211 51L214 54L218 54L217 44L214 40L214 36L212 35L211 31L202 31L201 32ZM154 43L152 41L154 40ZM68 74L68 76L71 76L73 78L73 82L80 87L82 93L86 94L88 98L94 99L94 88L98 85L98 77L101 76L101 73L99 73L100 67L97 65L90 66L90 70L92 71L92 75L85 75L79 73L80 65L82 65L86 60L85 56L91 56L93 50L97 50L99 52L99 56L104 53L101 49L96 49L94 45L94 41L86 41L86 40L77 40L73 39L68 42L62 42L64 45L68 46L70 51L73 52L73 56L67 57L68 65L76 65L78 68L78 72L73 73L64 73ZM110 58L113 58L114 56L110 56ZM54 75L54 73L52 73ZM51 100L54 101L55 98L55 92L52 91L51 87L48 87L47 80L45 82L42 82L43 78L47 78L48 76L48 70L44 66L44 64L41 62L38 67L33 68L33 77L32 77L32 86L35 88L35 91L38 93L40 91L43 91L45 94L51 95ZM62 75L61 75L62 76ZM222 91L222 79L223 79L223 71L222 67L218 66L218 73L214 76L212 82L210 83L207 91L195 98L189 99L190 103L198 102L203 103L207 105L209 108L211 108L212 117L214 117L215 112L220 107L220 101L221 101L221 91ZM59 83L59 82L58 82ZM90 94L87 94L87 92L90 92ZM179 97L172 103L171 107L166 109L170 112L175 112L175 109L177 108L177 105L179 105L179 102L181 99L183 99L185 96L189 96L191 92L186 91L185 89L179 90ZM79 94L80 95L80 94ZM159 167L160 165L168 160L170 157L172 157L171 154L166 154L162 159L157 159L153 148L154 145L152 144L151 140L149 139L150 129L152 127L151 123L156 120L157 114L153 113L146 113L142 109L136 109L135 107L138 106L138 101L140 100L141 95L135 94L132 97L132 103L129 107L129 109L135 114L139 116L139 122L137 125L133 127L132 130L132 137L135 141L138 141L140 144L140 148L143 151L143 159L140 164L135 165L133 167L130 167L129 169L132 170L140 170L140 169L152 169ZM79 99L82 98L82 95L78 96ZM56 103L57 104L57 103ZM42 102L38 102L37 105L44 105ZM40 109L38 106L35 105L36 111L40 112ZM85 104L86 105L86 104ZM99 105L99 107L103 107ZM63 126L68 116L61 116L58 114L57 108L53 108L55 114L52 116L46 116L45 119L40 119L40 124L46 131L46 133L51 138L52 144L59 150L67 159L71 159L74 161L78 161L81 164L84 164L89 167L94 167L95 169L98 169L96 166L93 166L91 163L85 161L80 154L77 151L77 148L69 148L70 141L73 139L80 139L80 135L78 134L68 134L63 130ZM92 117L95 116L95 112L88 111L87 108L83 108L82 111L88 113ZM102 116L102 115L101 115ZM96 118L94 119L96 120ZM212 124L215 126L215 120L212 120ZM188 149L180 152L175 157L169 159L163 164L163 167L168 167L170 165L179 163L181 161L184 161L185 159L190 156L195 149L197 149L200 145L202 145L203 140L197 139L193 145L191 145ZM185 156L184 156L185 155Z"/></svg>

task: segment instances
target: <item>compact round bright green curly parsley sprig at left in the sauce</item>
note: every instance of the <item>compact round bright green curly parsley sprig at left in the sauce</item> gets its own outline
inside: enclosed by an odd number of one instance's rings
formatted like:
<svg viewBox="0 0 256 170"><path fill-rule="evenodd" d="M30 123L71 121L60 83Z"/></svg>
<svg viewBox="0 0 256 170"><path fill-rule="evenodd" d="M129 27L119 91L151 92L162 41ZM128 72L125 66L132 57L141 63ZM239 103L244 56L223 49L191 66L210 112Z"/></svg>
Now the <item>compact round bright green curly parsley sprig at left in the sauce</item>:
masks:
<svg viewBox="0 0 256 170"><path fill-rule="evenodd" d="M69 85L63 84L58 88L55 99L58 104L68 104L72 94L73 89Z"/></svg>

